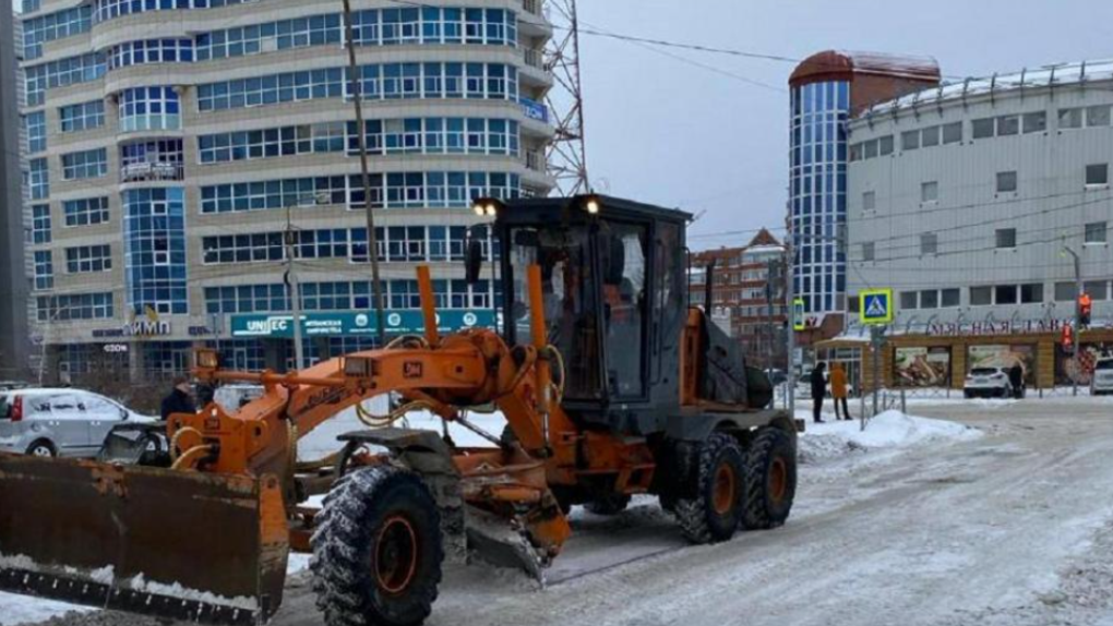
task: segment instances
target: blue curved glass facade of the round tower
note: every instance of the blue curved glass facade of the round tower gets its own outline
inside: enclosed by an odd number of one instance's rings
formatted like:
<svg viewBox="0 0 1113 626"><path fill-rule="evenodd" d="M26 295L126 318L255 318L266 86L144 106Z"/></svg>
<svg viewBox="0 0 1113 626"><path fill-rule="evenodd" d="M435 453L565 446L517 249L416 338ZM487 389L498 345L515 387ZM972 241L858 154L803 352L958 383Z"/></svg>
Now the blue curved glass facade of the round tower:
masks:
<svg viewBox="0 0 1113 626"><path fill-rule="evenodd" d="M794 292L808 314L841 312L846 294L850 83L794 87L789 141Z"/></svg>

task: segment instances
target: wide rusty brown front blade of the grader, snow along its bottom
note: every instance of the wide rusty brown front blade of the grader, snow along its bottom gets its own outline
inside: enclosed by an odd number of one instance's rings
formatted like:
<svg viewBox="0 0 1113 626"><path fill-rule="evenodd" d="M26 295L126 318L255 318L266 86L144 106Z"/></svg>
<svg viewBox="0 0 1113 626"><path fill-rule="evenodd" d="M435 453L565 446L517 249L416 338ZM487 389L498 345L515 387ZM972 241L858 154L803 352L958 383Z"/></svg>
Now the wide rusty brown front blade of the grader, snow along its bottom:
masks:
<svg viewBox="0 0 1113 626"><path fill-rule="evenodd" d="M289 552L279 481L0 454L0 590L260 624Z"/></svg>

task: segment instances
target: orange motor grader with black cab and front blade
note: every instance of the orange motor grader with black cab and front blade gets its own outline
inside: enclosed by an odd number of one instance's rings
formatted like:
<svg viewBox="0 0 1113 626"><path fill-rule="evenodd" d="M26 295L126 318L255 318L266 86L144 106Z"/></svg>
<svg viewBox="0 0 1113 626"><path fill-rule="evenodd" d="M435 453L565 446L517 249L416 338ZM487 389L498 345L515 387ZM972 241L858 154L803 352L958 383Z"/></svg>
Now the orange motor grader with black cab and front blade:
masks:
<svg viewBox="0 0 1113 626"><path fill-rule="evenodd" d="M688 306L690 216L599 196L476 210L494 217L501 334L442 336L420 268L421 336L290 374L228 371L199 350L199 384L265 393L159 425L165 463L141 458L164 467L0 455L0 589L260 624L293 549L313 555L327 625L408 626L430 615L446 557L543 575L573 505L613 514L653 494L695 543L781 525L798 425L766 408L765 376ZM479 238L465 258L474 280ZM384 394L402 399L390 415L362 408ZM481 405L505 417L501 436L469 418ZM299 437L353 409L373 427L297 461ZM398 427L415 409L495 447ZM305 506L316 495L323 505Z"/></svg>

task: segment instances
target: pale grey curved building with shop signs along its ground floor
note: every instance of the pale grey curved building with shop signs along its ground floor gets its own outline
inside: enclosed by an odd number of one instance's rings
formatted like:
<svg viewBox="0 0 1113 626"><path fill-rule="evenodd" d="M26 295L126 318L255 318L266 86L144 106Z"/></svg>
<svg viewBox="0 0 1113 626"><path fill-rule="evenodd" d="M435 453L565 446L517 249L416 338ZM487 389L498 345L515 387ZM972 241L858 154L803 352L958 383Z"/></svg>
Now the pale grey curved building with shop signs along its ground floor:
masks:
<svg viewBox="0 0 1113 626"><path fill-rule="evenodd" d="M849 310L895 290L887 379L957 388L1021 362L1030 385L1087 382L1113 347L1113 61L926 89L849 129ZM1076 362L1060 338L1080 282L1094 305Z"/></svg>

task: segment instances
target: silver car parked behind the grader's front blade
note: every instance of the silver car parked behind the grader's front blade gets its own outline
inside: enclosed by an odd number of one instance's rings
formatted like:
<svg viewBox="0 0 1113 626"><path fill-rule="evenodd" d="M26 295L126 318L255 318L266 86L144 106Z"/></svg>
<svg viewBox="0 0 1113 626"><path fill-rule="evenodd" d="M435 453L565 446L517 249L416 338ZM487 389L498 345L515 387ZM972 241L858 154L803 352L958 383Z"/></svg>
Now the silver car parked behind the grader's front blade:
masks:
<svg viewBox="0 0 1113 626"><path fill-rule="evenodd" d="M2 391L0 451L92 457L114 427L149 421L155 419L91 391L42 388Z"/></svg>

